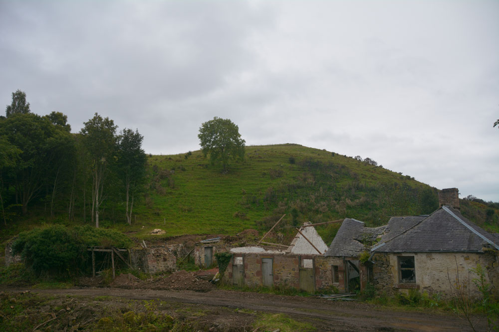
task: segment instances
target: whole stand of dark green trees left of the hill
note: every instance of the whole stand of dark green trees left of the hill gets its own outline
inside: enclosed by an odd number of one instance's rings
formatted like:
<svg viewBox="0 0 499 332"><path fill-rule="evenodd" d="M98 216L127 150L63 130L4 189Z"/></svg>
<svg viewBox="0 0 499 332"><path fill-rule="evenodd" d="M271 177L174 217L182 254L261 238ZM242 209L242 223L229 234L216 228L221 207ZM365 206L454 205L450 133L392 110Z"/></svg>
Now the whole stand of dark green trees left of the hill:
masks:
<svg viewBox="0 0 499 332"><path fill-rule="evenodd" d="M17 209L26 215L43 204L50 218L90 218L99 227L102 205L132 221L134 203L144 191L147 156L143 136L129 128L117 132L112 119L98 113L71 133L67 116L30 111L26 94L12 93L0 116L0 205L4 225Z"/></svg>

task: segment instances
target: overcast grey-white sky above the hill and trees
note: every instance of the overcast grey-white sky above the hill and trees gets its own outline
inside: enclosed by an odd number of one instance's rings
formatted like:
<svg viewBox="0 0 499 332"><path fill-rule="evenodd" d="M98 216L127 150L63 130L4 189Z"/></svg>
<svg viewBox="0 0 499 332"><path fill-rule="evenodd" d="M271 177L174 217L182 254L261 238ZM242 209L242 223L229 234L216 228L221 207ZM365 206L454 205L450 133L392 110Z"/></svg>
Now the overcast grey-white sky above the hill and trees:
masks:
<svg viewBox="0 0 499 332"><path fill-rule="evenodd" d="M0 0L0 104L95 112L144 149L202 122L499 201L499 1Z"/></svg>

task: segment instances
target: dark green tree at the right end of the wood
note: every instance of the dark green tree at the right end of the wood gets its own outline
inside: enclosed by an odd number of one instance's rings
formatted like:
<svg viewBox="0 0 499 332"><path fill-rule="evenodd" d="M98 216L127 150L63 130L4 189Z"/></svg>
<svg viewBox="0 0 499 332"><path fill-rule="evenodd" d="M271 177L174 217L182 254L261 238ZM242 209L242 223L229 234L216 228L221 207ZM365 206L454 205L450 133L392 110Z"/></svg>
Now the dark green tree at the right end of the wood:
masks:
<svg viewBox="0 0 499 332"><path fill-rule="evenodd" d="M125 128L118 136L117 157L119 178L124 187L126 220L132 224L134 197L142 191L146 177L147 156L142 149L142 136L138 130Z"/></svg>

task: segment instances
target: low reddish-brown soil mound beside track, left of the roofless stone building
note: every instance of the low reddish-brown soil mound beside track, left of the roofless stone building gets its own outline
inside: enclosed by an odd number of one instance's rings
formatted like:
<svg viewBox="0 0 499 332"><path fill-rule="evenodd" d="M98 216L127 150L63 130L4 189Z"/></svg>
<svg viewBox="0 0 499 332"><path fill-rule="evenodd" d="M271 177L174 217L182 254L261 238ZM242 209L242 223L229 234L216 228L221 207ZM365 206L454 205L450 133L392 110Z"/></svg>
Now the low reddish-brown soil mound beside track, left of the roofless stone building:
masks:
<svg viewBox="0 0 499 332"><path fill-rule="evenodd" d="M214 285L206 280L198 279L194 272L180 270L168 277L159 277L154 280L146 280L138 285L144 289L171 289L171 290L188 290L197 292L208 292L213 289Z"/></svg>

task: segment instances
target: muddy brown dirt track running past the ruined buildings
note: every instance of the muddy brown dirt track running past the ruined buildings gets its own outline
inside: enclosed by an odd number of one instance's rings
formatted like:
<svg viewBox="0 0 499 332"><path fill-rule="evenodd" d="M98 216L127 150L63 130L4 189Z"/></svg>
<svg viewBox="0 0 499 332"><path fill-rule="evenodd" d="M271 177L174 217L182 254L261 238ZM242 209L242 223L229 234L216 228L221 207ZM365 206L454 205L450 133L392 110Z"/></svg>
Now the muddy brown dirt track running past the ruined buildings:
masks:
<svg viewBox="0 0 499 332"><path fill-rule="evenodd" d="M128 290L117 288L31 290L32 293L73 296L114 296L134 300L158 299L211 308L227 307L266 313L283 313L312 322L318 331L471 331L467 323L452 314L438 315L396 312L357 302L277 296L249 292L213 290L193 291ZM485 323L481 322L482 324ZM478 325L477 331L485 331Z"/></svg>

